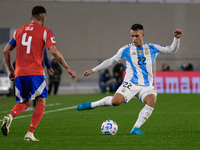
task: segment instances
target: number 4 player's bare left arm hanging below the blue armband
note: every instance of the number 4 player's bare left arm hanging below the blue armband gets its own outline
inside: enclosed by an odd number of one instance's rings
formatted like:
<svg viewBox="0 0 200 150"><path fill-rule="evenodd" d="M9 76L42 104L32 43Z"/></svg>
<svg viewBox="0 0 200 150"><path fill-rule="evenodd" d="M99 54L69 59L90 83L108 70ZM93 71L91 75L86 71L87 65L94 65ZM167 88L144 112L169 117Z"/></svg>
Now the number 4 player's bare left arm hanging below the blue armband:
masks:
<svg viewBox="0 0 200 150"><path fill-rule="evenodd" d="M11 59L11 51L14 49L15 47L12 46L11 44L7 44L6 47L4 48L4 57L5 57L5 60L6 60L6 64L8 66L8 69L10 71L10 74L9 74L9 78L10 80L14 80L15 79L15 74L14 74L14 67L13 67L13 64L12 64L12 59Z"/></svg>

